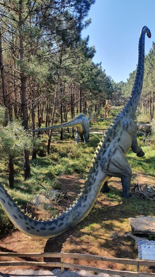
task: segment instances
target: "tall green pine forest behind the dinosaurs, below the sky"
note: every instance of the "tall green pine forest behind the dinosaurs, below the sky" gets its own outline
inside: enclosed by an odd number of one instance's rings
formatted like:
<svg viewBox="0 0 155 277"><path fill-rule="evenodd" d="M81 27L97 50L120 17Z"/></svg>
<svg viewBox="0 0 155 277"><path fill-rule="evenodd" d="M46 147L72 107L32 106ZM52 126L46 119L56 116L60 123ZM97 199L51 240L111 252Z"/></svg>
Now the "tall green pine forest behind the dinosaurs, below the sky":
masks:
<svg viewBox="0 0 155 277"><path fill-rule="evenodd" d="M95 0L11 0L0 2L1 156L9 161L9 186L14 185L15 156L24 151L25 180L30 177L29 155L36 159L37 140L29 129L67 122L87 107L95 118L106 99L127 102L136 69L127 82L114 82L92 58L95 46L81 31ZM139 113L153 119L155 100L155 43L145 58ZM22 124L22 126L21 126ZM13 130L13 132L11 132ZM18 136L17 136L18 131ZM1 132L2 133L2 132ZM52 133L48 133L47 155ZM11 140L10 140L11 138ZM18 138L18 139L17 139ZM18 141L17 141L18 140Z"/></svg>

